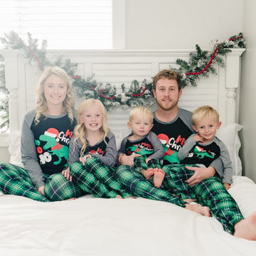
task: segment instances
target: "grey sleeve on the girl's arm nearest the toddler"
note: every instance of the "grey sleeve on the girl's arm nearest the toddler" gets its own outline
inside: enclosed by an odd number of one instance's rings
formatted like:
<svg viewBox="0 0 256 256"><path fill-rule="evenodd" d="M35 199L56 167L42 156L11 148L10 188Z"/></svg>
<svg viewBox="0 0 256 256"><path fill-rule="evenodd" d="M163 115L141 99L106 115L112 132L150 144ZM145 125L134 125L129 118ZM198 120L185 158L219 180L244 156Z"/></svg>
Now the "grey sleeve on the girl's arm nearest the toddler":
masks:
<svg viewBox="0 0 256 256"><path fill-rule="evenodd" d="M107 135L107 137L110 139L107 143L106 153L104 156L97 155L97 157L100 158L103 164L114 167L114 165L117 162L117 143L114 137L114 134L110 132L110 134ZM91 154L92 156L95 156L95 154Z"/></svg>

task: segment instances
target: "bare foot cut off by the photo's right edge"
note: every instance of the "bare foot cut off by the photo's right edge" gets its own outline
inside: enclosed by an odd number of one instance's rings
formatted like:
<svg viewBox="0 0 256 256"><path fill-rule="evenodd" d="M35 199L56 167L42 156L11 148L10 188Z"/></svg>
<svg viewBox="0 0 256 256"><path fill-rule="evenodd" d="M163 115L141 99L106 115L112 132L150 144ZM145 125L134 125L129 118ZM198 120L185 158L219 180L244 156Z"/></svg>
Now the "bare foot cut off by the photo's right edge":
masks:
<svg viewBox="0 0 256 256"><path fill-rule="evenodd" d="M234 236L247 240L256 240L256 212L235 224Z"/></svg>

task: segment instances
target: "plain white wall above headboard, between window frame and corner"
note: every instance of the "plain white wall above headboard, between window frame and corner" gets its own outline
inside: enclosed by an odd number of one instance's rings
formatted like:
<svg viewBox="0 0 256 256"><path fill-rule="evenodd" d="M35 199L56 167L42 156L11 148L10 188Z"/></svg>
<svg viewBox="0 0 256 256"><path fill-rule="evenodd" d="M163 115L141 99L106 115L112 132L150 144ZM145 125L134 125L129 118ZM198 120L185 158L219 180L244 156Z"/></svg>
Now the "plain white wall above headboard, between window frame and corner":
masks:
<svg viewBox="0 0 256 256"><path fill-rule="evenodd" d="M243 0L126 0L126 48L208 48L242 31Z"/></svg>

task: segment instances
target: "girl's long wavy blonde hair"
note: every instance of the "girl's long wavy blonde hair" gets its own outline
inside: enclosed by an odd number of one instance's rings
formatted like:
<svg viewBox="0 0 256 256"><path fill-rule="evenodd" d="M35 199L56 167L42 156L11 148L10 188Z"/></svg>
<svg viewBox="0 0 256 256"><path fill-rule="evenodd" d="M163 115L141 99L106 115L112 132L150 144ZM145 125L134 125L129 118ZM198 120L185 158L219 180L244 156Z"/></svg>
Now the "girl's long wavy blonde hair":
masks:
<svg viewBox="0 0 256 256"><path fill-rule="evenodd" d="M102 127L100 127L100 131L104 133L103 140L106 145L107 145L106 137L107 137L107 134L110 133L110 128L107 126L107 112L102 102L100 100L95 100L95 99L84 100L80 104L80 107L78 109L78 124L75 126L75 129L74 129L75 141L77 139L80 139L82 142L82 149L80 150L80 156L83 156L83 154L85 153L85 149L88 146L88 142L86 140L87 130L85 128L85 124L81 119L81 115L83 112L85 112L87 107L90 107L91 105L97 105L97 107L99 107L100 109L100 113L102 114Z"/></svg>

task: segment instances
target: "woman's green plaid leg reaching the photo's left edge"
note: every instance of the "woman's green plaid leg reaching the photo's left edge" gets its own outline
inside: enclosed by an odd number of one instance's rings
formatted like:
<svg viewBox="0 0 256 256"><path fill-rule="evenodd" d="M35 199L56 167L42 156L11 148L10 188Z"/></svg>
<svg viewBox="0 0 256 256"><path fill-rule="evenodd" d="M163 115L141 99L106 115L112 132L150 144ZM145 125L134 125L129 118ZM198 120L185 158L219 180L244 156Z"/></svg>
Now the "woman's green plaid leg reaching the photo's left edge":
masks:
<svg viewBox="0 0 256 256"><path fill-rule="evenodd" d="M0 189L3 193L49 202L34 186L27 171L13 164L0 164Z"/></svg>

